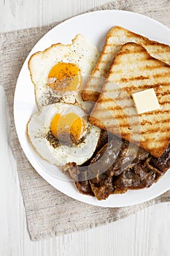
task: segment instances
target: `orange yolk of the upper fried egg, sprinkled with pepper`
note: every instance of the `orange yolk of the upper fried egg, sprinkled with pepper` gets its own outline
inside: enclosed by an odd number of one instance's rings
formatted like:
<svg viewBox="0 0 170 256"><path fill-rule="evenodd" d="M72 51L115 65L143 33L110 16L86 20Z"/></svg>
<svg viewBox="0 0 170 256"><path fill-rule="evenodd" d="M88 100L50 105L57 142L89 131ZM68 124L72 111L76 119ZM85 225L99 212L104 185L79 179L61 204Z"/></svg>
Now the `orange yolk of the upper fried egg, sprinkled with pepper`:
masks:
<svg viewBox="0 0 170 256"><path fill-rule="evenodd" d="M80 69L72 63L58 62L48 75L50 88L61 92L76 91L81 81Z"/></svg>

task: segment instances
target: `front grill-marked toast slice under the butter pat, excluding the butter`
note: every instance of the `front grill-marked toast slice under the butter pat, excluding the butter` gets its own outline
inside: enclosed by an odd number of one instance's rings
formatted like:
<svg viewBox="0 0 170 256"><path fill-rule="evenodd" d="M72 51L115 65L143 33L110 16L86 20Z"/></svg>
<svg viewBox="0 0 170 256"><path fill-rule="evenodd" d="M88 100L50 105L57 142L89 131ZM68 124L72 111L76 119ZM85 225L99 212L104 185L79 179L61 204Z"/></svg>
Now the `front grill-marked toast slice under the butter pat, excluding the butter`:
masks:
<svg viewBox="0 0 170 256"><path fill-rule="evenodd" d="M151 88L161 108L138 115L131 95ZM89 121L160 157L170 143L169 64L151 57L141 45L123 45Z"/></svg>

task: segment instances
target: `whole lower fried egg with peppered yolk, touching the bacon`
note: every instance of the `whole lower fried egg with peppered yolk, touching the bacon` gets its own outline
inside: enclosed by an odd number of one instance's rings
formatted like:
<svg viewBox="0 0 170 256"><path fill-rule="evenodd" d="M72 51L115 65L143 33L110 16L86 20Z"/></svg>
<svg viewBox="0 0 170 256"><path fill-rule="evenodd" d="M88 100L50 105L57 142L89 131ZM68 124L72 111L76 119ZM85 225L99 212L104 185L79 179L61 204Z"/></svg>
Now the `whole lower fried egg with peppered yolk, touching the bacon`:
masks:
<svg viewBox="0 0 170 256"><path fill-rule="evenodd" d="M82 165L90 159L100 130L88 122L82 108L63 103L43 107L27 125L28 139L37 153L50 164L58 166L68 162Z"/></svg>

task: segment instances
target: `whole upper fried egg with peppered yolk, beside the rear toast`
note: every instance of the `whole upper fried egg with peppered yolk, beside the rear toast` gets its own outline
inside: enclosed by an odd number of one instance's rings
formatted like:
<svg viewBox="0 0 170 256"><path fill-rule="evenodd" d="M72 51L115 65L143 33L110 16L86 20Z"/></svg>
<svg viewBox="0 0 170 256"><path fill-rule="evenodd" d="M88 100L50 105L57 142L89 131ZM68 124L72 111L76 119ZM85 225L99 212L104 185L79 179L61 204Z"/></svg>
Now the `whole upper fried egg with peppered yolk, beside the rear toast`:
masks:
<svg viewBox="0 0 170 256"><path fill-rule="evenodd" d="M38 108L55 102L82 105L82 87L98 57L98 49L81 34L77 34L70 45L58 43L34 53L28 69Z"/></svg>

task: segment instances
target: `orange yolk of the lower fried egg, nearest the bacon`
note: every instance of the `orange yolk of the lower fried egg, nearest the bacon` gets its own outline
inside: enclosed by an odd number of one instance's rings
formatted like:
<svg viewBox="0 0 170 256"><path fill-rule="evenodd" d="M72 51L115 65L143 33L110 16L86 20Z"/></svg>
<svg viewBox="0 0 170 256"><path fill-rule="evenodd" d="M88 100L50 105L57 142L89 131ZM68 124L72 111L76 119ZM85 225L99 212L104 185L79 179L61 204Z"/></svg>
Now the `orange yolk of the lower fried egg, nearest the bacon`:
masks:
<svg viewBox="0 0 170 256"><path fill-rule="evenodd" d="M68 135L72 142L77 142L85 132L85 121L75 113L68 113L65 116L56 114L50 124L50 130L55 138L67 139Z"/></svg>

